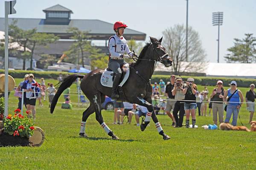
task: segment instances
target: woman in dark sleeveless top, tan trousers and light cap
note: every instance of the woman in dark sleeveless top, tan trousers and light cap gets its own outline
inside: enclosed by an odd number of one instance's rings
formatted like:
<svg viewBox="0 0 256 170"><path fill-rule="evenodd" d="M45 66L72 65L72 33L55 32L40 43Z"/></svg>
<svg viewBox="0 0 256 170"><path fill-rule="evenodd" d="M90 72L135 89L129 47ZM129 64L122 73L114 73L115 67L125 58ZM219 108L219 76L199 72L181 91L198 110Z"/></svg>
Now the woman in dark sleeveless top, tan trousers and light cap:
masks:
<svg viewBox="0 0 256 170"><path fill-rule="evenodd" d="M217 125L223 123L224 107L223 107L223 95L226 92L223 88L223 82L221 80L217 81L216 88L213 89L211 94L212 101L212 119L213 123Z"/></svg>

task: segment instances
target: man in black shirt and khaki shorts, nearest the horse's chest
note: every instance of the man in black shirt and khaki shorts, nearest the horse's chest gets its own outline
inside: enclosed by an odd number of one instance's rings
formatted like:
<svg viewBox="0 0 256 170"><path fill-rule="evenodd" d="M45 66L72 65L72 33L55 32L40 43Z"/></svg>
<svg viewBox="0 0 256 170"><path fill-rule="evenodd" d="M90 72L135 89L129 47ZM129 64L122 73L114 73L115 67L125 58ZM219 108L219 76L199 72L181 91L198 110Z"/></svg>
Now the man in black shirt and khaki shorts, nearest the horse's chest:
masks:
<svg viewBox="0 0 256 170"><path fill-rule="evenodd" d="M172 90L175 86L175 75L171 75L170 83L166 85L166 96L167 96L167 104L166 104L166 114L172 119L172 126L175 127L175 118L173 117L171 111L173 112L176 101L174 100L175 95L172 95ZM176 124L177 126L177 124Z"/></svg>

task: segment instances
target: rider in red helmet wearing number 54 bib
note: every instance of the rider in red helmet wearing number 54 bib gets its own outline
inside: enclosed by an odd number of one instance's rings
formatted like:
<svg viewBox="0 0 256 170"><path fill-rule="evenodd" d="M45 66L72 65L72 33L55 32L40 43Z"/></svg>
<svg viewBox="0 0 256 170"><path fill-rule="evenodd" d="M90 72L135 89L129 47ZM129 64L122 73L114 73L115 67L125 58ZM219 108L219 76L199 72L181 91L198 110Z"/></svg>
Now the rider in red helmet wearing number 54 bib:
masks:
<svg viewBox="0 0 256 170"><path fill-rule="evenodd" d="M129 58L133 56L133 53L130 51L125 38L122 36L125 32L125 28L128 27L122 21L117 21L114 23L115 35L111 36L108 40L108 49L110 52L108 68L110 68L115 74L112 87L112 99L118 99L119 94L117 88L119 85L120 78L122 76L121 68L126 62L124 58Z"/></svg>

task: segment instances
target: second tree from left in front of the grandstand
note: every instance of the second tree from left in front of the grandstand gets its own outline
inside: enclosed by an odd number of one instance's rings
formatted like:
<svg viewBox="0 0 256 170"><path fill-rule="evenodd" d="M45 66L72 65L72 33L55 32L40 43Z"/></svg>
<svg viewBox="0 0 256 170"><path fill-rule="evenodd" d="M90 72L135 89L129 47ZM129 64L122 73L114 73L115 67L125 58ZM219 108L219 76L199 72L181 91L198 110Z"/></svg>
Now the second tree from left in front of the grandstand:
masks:
<svg viewBox="0 0 256 170"><path fill-rule="evenodd" d="M29 47L31 50L31 53L30 53L30 68L31 69L32 69L32 61L33 61L35 47L36 46L47 46L47 44L54 43L56 40L58 40L58 36L55 36L54 34L36 32L35 34L32 35L32 37L29 39Z"/></svg>

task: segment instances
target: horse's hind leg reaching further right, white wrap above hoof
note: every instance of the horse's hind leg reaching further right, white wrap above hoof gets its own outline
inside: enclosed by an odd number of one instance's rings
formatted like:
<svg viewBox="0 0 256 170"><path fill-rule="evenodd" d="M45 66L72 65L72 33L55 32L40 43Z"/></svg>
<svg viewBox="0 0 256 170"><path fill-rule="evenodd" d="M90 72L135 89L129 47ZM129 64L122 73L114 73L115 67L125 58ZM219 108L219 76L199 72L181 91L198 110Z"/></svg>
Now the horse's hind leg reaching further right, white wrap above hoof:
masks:
<svg viewBox="0 0 256 170"><path fill-rule="evenodd" d="M109 127L103 121L102 114L101 114L101 98L102 96L99 94L96 94L93 96L93 104L95 109L96 120L105 130L105 132L112 137L112 139L119 139L116 135L114 135L114 133L109 129Z"/></svg>

